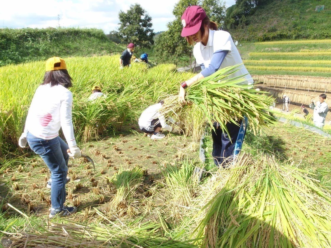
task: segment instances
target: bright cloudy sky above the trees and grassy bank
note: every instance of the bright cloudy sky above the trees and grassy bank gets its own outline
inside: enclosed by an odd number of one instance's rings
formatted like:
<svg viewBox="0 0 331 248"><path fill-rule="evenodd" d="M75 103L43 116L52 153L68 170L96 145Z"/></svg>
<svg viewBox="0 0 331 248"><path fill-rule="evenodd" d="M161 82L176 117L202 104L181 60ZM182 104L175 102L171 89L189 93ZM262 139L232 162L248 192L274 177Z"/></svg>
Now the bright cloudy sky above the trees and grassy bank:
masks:
<svg viewBox="0 0 331 248"><path fill-rule="evenodd" d="M118 12L139 3L152 17L155 32L165 31L174 20L173 6L178 0L12 0L0 8L0 28L80 27L100 28L106 34L118 27ZM235 0L226 0L226 6Z"/></svg>

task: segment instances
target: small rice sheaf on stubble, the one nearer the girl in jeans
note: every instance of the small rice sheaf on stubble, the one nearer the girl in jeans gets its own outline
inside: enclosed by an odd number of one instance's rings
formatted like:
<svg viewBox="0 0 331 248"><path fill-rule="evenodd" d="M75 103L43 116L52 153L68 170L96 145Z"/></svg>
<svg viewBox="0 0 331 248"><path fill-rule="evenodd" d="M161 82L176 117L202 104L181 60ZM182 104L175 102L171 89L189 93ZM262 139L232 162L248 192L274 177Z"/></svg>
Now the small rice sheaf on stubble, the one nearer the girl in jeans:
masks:
<svg viewBox="0 0 331 248"><path fill-rule="evenodd" d="M118 172L111 178L112 184L116 188L116 194L111 203L114 211L122 215L130 206L135 195L135 190L142 185L144 171L135 167L132 170L119 168Z"/></svg>

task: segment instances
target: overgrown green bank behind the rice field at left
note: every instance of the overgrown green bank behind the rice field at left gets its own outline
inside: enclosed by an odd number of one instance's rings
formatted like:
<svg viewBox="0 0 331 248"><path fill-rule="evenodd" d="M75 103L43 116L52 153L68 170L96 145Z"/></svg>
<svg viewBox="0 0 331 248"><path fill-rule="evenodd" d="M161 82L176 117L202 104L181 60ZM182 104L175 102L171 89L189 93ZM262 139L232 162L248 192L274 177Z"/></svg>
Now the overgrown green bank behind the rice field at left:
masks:
<svg viewBox="0 0 331 248"><path fill-rule="evenodd" d="M52 56L93 56L122 52L101 29L0 29L0 66L46 60Z"/></svg>

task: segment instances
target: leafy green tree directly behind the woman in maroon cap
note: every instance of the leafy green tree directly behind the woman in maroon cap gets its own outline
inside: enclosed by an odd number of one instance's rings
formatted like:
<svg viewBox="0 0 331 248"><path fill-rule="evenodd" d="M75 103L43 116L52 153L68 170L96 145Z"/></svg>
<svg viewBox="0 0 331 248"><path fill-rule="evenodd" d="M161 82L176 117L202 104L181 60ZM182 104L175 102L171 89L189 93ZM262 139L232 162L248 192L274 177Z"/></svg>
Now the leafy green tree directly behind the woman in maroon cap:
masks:
<svg viewBox="0 0 331 248"><path fill-rule="evenodd" d="M224 23L226 7L221 0L180 0L172 11L176 19L167 24L168 30L161 33L155 41L155 49L159 51L161 62L171 61L177 64L180 58L188 56L192 64L193 47L180 35L183 28L180 18L189 5L202 6L211 21L219 26Z"/></svg>

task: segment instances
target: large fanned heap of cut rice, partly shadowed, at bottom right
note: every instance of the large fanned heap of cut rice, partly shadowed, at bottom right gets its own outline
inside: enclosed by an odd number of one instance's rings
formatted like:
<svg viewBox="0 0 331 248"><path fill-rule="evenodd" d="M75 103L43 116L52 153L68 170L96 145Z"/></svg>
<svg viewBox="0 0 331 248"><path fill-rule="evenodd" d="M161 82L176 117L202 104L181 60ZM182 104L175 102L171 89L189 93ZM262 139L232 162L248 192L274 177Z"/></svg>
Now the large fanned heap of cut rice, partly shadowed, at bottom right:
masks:
<svg viewBox="0 0 331 248"><path fill-rule="evenodd" d="M331 195L307 172L243 154L231 173L202 209L203 247L331 246Z"/></svg>

